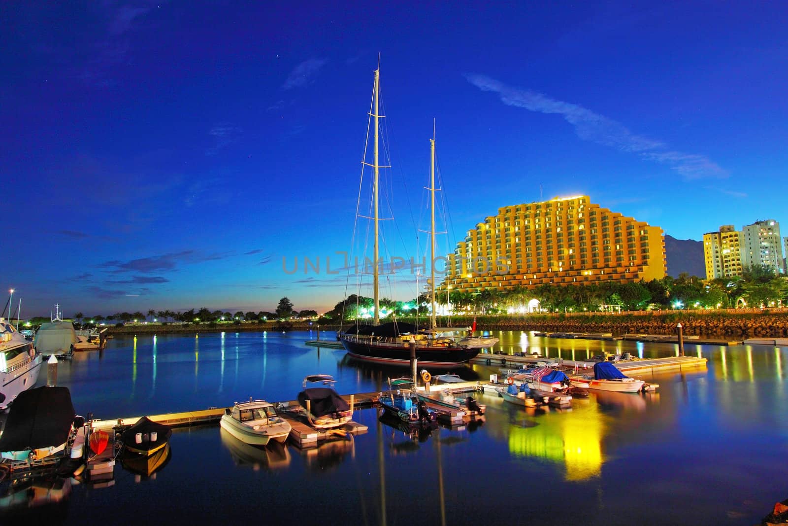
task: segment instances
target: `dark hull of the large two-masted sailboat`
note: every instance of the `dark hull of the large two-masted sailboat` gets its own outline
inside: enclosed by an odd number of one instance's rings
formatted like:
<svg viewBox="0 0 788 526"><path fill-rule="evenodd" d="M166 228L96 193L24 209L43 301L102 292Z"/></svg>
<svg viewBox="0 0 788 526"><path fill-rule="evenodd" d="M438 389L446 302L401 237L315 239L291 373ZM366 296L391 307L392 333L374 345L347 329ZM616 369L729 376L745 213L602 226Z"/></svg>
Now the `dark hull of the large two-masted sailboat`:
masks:
<svg viewBox="0 0 788 526"><path fill-rule="evenodd" d="M411 349L408 349L407 345L370 344L357 338L341 338L341 340L348 354L358 360L390 365L411 364ZM430 367L455 367L466 364L480 352L481 348L418 346L416 360L419 365Z"/></svg>

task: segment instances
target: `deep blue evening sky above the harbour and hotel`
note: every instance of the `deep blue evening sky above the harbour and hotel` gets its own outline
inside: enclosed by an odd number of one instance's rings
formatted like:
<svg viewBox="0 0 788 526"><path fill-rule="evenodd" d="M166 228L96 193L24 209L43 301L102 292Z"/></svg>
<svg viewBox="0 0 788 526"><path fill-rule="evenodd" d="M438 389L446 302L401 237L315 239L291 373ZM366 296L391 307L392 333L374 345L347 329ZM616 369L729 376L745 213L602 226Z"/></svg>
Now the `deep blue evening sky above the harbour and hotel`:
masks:
<svg viewBox="0 0 788 526"><path fill-rule="evenodd" d="M55 302L67 315L272 310L283 296L333 306L345 278L325 273L325 257L340 267L335 253L351 246L378 54L392 254L416 254L425 228L414 223L433 118L447 248L540 196L589 195L680 239L788 225L783 2L6 2L0 13L13 233L0 270L23 315ZM322 272L304 274L305 256Z"/></svg>

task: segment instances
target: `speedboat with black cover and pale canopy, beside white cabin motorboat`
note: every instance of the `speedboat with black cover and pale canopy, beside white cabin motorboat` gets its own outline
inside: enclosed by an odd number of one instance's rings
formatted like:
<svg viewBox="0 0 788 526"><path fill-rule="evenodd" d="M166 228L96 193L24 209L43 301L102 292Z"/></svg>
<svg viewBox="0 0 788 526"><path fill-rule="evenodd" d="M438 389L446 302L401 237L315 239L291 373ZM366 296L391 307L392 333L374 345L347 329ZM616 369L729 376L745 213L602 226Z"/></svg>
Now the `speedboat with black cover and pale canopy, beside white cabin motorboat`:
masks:
<svg viewBox="0 0 788 526"><path fill-rule="evenodd" d="M307 387L322 383L324 387ZM307 413L307 420L315 429L333 429L344 426L353 416L353 397L351 403L344 401L336 394L333 384L336 380L331 375L309 375L303 379L303 391L298 394L298 401Z"/></svg>

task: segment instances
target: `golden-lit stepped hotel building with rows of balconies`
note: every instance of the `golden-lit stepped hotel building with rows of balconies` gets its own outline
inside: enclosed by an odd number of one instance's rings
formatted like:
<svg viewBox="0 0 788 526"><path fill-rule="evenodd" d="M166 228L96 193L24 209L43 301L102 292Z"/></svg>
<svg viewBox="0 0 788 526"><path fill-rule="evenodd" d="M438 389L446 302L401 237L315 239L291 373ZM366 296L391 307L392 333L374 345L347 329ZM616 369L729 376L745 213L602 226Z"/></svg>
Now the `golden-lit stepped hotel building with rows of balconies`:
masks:
<svg viewBox="0 0 788 526"><path fill-rule="evenodd" d="M660 227L574 196L502 207L449 256L441 292L664 278Z"/></svg>

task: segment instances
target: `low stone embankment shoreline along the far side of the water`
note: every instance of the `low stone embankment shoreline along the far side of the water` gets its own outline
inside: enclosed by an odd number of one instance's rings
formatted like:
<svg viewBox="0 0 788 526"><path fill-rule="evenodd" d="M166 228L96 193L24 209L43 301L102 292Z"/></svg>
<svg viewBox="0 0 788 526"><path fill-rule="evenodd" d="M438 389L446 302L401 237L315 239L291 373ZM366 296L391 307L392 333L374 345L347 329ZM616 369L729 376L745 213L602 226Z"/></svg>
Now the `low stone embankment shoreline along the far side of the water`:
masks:
<svg viewBox="0 0 788 526"><path fill-rule="evenodd" d="M455 327L472 326L474 319L477 331L522 330L545 332L577 332L620 334L676 334L676 326L682 324L684 334L698 336L753 336L757 338L788 337L788 313L742 313L707 314L697 311L674 311L669 314L651 312L622 314L540 314L518 316L455 316ZM414 323L412 318L400 321ZM423 319L419 320L423 323ZM351 323L345 323L349 326ZM262 332L317 330L331 332L340 329L338 323L317 322L266 322L266 323L188 323L166 325L158 323L110 326L107 334L188 334L210 332Z"/></svg>

